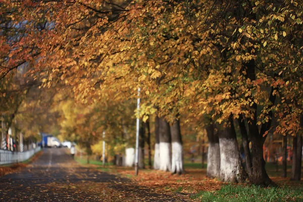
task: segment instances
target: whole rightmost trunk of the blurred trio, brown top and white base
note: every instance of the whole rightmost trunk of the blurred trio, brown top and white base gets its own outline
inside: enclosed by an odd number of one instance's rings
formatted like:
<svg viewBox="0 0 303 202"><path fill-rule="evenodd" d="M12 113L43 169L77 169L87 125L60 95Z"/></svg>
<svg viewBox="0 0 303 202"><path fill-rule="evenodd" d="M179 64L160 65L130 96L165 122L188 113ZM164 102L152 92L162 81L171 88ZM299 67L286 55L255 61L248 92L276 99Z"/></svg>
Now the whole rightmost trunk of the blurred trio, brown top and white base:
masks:
<svg viewBox="0 0 303 202"><path fill-rule="evenodd" d="M175 120L170 126L172 140L172 173L183 172L183 145L180 131L180 120Z"/></svg>

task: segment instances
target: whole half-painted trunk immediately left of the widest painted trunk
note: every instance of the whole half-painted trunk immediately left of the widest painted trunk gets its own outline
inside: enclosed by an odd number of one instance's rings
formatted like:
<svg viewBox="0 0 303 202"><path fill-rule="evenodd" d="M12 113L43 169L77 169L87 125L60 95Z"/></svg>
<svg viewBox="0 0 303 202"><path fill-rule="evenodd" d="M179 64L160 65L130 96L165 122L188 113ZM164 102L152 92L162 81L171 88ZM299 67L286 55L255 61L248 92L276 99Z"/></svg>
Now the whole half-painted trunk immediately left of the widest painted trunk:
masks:
<svg viewBox="0 0 303 202"><path fill-rule="evenodd" d="M215 126L209 122L206 126L207 136L209 140L207 153L207 176L211 178L220 177L220 146L219 137L215 132Z"/></svg>

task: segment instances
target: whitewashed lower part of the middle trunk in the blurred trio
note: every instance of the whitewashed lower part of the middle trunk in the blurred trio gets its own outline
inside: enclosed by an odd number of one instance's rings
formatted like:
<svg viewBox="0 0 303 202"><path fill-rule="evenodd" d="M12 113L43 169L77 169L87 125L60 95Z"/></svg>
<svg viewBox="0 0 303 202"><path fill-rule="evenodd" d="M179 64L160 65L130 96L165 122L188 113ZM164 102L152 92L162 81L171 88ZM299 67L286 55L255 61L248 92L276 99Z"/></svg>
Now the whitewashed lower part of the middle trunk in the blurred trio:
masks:
<svg viewBox="0 0 303 202"><path fill-rule="evenodd" d="M171 171L171 144L169 142L160 142L160 167L159 170Z"/></svg>

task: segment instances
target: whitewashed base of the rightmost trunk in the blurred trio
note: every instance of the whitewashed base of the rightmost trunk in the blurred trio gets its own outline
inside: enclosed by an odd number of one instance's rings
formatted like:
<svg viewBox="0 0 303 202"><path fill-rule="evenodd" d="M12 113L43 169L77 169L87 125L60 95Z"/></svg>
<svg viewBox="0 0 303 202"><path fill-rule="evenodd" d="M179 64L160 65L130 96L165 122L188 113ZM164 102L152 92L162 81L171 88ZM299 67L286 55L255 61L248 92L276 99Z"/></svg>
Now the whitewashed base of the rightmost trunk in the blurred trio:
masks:
<svg viewBox="0 0 303 202"><path fill-rule="evenodd" d="M180 142L172 143L172 173L183 172L183 146Z"/></svg>

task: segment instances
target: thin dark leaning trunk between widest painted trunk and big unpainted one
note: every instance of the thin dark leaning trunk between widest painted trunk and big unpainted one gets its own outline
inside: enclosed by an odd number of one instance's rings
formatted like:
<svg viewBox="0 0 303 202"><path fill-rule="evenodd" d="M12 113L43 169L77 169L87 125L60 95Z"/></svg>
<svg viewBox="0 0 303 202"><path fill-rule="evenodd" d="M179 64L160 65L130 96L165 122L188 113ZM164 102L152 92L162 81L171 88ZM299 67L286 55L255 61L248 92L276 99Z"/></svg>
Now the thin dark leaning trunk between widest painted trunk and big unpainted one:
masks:
<svg viewBox="0 0 303 202"><path fill-rule="evenodd" d="M242 135L242 143L243 143L243 149L244 149L244 156L245 156L245 166L248 175L251 175L252 168L251 168L251 155L249 150L249 141L248 141L248 135L247 130L245 127L243 116L240 115L238 119L241 135Z"/></svg>

